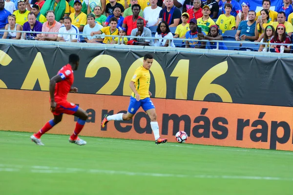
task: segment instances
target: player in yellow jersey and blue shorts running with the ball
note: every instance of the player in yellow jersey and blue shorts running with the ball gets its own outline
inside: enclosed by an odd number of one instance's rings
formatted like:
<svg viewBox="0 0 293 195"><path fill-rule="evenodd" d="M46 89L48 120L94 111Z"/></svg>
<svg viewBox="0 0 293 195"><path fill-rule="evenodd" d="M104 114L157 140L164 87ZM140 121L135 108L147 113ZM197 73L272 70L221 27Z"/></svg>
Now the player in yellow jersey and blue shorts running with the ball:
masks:
<svg viewBox="0 0 293 195"><path fill-rule="evenodd" d="M152 65L153 57L151 54L144 56L144 64L137 68L134 72L129 86L133 91L130 97L130 103L126 114L119 113L116 115L105 115L102 121L102 127L110 120L130 120L136 111L142 107L150 117L150 126L154 133L156 144L165 143L167 139L161 138L159 133L159 125L157 122L157 114L155 106L150 100L151 93L149 92L150 74L149 69Z"/></svg>

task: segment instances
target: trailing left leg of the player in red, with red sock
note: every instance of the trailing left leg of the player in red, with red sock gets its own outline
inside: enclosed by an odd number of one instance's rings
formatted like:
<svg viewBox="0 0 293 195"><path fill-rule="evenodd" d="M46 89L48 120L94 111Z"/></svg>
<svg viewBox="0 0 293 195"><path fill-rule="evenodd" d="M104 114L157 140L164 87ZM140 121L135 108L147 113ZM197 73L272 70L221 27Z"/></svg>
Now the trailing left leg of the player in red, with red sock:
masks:
<svg viewBox="0 0 293 195"><path fill-rule="evenodd" d="M44 145L41 142L41 136L45 134L47 131L52 129L55 125L57 125L62 120L62 114L60 115L53 115L54 119L49 120L43 127L40 129L40 131L34 135L32 135L30 138L33 142L35 142L38 145Z"/></svg>

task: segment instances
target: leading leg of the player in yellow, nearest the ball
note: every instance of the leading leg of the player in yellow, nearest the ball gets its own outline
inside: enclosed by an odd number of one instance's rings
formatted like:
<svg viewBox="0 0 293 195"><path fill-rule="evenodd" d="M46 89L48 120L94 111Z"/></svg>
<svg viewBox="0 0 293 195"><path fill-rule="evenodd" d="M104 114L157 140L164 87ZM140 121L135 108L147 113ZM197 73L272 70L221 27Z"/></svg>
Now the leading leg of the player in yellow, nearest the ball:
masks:
<svg viewBox="0 0 293 195"><path fill-rule="evenodd" d="M151 130L154 133L156 144L167 142L167 139L160 137L160 131L159 131L159 124L157 122L156 109L155 109L154 104L150 100L150 98L143 99L142 107L146 111L147 115L150 118L150 127L151 127Z"/></svg>

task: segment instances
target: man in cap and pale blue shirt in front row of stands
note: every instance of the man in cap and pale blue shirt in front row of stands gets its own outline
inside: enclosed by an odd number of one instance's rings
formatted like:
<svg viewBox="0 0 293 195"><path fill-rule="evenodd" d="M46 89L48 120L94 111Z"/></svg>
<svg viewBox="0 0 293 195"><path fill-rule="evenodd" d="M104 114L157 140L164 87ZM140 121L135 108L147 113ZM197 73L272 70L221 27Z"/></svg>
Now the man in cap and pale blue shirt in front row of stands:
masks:
<svg viewBox="0 0 293 195"><path fill-rule="evenodd" d="M83 32L83 37L85 42L102 43L104 39L101 39L100 36L96 36L96 35L90 36L90 33L101 30L103 26L95 22L95 15L91 13L88 14L86 18L87 18L87 24L84 26L84 32Z"/></svg>

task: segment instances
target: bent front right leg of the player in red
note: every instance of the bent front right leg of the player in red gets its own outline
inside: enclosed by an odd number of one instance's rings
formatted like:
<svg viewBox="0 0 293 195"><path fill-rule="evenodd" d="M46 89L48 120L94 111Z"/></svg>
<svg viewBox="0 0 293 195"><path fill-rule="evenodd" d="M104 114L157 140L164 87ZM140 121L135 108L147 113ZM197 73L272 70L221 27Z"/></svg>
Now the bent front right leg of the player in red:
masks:
<svg viewBox="0 0 293 195"><path fill-rule="evenodd" d="M86 141L84 141L83 139L80 139L78 135L83 130L84 124L88 115L80 107L77 108L77 111L73 115L78 117L78 120L76 122L76 126L75 126L73 134L69 137L69 142L76 143L77 145L85 145Z"/></svg>

